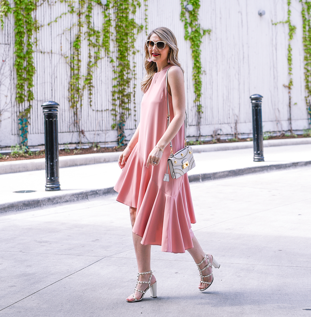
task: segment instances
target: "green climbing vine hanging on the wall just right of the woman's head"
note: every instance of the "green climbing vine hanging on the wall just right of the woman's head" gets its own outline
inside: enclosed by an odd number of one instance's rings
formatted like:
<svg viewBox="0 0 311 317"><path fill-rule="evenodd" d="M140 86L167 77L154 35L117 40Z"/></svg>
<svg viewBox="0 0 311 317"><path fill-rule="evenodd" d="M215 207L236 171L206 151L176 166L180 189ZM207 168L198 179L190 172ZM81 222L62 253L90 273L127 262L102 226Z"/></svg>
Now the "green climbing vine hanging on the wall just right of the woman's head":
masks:
<svg viewBox="0 0 311 317"><path fill-rule="evenodd" d="M180 18L184 23L185 40L190 42L190 48L192 50L191 56L193 60L192 80L194 85L195 100L197 111L197 126L199 129L199 136L201 136L200 124L203 113L201 96L202 96L202 64L201 64L201 43L202 37L205 34L210 34L211 29L202 29L198 22L198 14L200 9L200 0L189 0L187 4L193 6L193 10L186 13L185 1L181 0L181 13ZM189 30L190 29L190 30Z"/></svg>

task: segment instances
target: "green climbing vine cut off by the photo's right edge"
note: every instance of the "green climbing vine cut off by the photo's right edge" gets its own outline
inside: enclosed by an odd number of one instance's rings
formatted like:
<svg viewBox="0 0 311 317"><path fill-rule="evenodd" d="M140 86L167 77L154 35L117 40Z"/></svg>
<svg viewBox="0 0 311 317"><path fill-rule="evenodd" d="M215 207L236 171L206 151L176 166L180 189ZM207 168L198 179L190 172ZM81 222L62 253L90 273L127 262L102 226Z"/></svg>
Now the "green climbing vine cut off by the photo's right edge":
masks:
<svg viewBox="0 0 311 317"><path fill-rule="evenodd" d="M308 0L302 3L301 16L302 16L302 42L304 48L304 69L305 69L305 89L306 89L306 105L311 125L311 2Z"/></svg>

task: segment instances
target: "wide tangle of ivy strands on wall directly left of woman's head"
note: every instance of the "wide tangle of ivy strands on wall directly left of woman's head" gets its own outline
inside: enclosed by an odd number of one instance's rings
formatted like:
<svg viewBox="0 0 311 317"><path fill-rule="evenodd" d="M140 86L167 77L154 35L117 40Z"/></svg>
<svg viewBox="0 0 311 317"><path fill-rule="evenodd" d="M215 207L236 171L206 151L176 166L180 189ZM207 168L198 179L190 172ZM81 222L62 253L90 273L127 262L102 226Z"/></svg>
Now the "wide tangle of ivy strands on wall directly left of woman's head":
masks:
<svg viewBox="0 0 311 317"><path fill-rule="evenodd" d="M135 22L134 15L136 8L141 6L138 0L108 0L103 10L102 30L97 30L92 24L92 10L94 3L102 5L99 0L77 0L77 7L73 0L61 0L68 3L69 13L77 15L76 35L72 43L72 52L67 57L70 64L69 82L69 103L74 110L75 126L80 132L78 117L79 107L82 107L83 92L87 90L90 106L92 105L93 94L93 72L97 62L101 59L102 50L107 55L112 55L110 51L110 41L114 42L116 61L110 56L113 67L113 89L112 89L112 129L117 129L118 144L124 145L124 126L129 115L132 97L134 99L134 115L136 112L135 89L136 89L136 63L134 56L137 52L134 43L136 35L143 29L143 25ZM145 6L146 6L146 1ZM114 19L110 10L113 11ZM63 15L63 14L62 14ZM62 16L61 15L61 16ZM55 21L57 21L57 17ZM146 21L145 10L145 21ZM114 21L114 23L112 23ZM112 30L114 24L114 30ZM86 32L83 33L83 29ZM84 36L84 37L83 37ZM83 39L88 42L88 62L86 75L82 74L81 46ZM132 67L130 57L132 56ZM131 87L132 83L132 87ZM132 89L131 89L132 88ZM134 119L136 122L136 119Z"/></svg>

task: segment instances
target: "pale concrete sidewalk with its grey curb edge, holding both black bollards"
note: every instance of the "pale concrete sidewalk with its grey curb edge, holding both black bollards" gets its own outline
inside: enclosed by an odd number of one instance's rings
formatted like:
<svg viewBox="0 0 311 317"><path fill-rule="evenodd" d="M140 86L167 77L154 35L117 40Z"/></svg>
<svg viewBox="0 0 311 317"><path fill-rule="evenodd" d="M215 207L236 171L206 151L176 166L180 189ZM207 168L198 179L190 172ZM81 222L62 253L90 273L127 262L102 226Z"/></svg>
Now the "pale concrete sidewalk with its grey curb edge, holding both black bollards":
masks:
<svg viewBox="0 0 311 317"><path fill-rule="evenodd" d="M190 182L310 165L311 144L266 147L264 162L253 162L252 148L201 152L194 156L196 166L188 173ZM117 162L60 168L61 191L52 192L45 191L44 170L1 174L0 212L42 208L112 194L120 173Z"/></svg>

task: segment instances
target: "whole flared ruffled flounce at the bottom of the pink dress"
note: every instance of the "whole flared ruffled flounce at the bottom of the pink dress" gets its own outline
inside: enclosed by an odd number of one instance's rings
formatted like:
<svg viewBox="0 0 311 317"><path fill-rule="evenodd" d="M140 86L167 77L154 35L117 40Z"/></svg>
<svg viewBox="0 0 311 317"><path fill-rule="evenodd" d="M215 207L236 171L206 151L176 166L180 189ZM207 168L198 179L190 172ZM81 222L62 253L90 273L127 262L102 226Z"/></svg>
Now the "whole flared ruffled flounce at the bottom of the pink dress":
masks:
<svg viewBox="0 0 311 317"><path fill-rule="evenodd" d="M196 221L187 174L171 196L152 179L141 154L135 148L132 153L114 189L119 193L117 201L137 208L133 232L142 237L143 245L161 245L164 252L193 248L191 223Z"/></svg>

